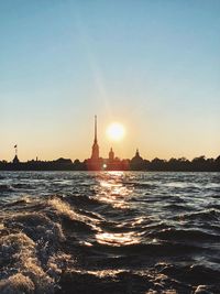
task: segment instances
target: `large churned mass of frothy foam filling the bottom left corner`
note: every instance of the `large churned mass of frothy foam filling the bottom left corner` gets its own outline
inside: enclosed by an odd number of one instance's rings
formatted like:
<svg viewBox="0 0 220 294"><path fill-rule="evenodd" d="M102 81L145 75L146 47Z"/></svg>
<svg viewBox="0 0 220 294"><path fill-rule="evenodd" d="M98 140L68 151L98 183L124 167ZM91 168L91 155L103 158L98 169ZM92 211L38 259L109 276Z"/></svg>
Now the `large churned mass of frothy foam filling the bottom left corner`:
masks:
<svg viewBox="0 0 220 294"><path fill-rule="evenodd" d="M61 251L62 225L44 213L4 216L0 240L0 293L54 293L72 255Z"/></svg>

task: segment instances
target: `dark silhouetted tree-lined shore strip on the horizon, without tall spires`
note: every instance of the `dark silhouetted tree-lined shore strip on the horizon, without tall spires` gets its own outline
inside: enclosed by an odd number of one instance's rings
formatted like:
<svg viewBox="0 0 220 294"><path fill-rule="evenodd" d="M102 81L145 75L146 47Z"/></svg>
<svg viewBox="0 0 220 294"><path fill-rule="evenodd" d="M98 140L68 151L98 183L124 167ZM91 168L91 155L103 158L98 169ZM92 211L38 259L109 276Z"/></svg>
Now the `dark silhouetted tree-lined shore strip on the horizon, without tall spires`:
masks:
<svg viewBox="0 0 220 294"><path fill-rule="evenodd" d="M140 155L134 156L131 160L114 159L113 161L107 159L98 159L92 162L91 160L85 160L80 162L70 159L58 159L55 161L16 161L6 162L0 161L0 171L18 172L48 172L48 171L138 171L138 172L220 172L220 156L217 159L206 159L205 156L195 157L189 161L185 157L160 160L154 159L147 161Z"/></svg>

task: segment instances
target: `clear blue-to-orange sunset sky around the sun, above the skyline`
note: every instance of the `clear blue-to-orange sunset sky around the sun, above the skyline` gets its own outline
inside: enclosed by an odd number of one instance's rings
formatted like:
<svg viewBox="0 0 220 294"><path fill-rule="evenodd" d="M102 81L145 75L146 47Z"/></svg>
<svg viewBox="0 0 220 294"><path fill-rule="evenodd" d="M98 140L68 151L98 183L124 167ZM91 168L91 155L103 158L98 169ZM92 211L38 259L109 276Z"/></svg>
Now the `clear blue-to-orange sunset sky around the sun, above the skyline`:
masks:
<svg viewBox="0 0 220 294"><path fill-rule="evenodd" d="M0 1L0 160L220 155L219 0ZM119 142L106 135L118 121Z"/></svg>

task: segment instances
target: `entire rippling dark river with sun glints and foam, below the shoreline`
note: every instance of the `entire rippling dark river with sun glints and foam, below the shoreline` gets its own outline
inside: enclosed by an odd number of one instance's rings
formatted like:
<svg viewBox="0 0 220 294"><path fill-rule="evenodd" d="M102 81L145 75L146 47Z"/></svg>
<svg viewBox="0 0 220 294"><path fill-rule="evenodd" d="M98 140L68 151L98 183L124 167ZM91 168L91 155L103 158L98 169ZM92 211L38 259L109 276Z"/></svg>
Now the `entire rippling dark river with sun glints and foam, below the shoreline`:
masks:
<svg viewBox="0 0 220 294"><path fill-rule="evenodd" d="M220 174L3 172L0 211L0 293L220 293Z"/></svg>

